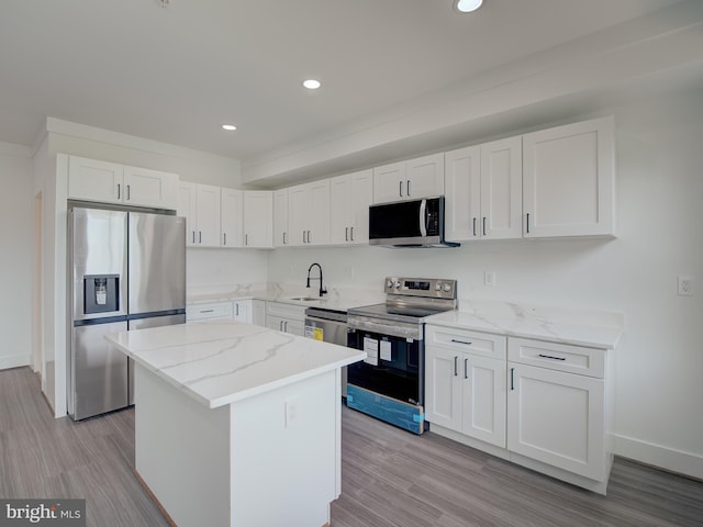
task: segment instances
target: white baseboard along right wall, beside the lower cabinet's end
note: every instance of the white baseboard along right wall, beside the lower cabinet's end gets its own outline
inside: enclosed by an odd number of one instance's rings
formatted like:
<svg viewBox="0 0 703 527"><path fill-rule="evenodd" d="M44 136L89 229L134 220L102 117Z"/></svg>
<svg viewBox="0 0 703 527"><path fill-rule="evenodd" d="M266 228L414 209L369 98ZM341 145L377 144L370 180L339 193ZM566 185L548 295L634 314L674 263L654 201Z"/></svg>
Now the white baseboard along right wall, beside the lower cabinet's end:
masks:
<svg viewBox="0 0 703 527"><path fill-rule="evenodd" d="M614 435L615 455L703 480L703 456Z"/></svg>

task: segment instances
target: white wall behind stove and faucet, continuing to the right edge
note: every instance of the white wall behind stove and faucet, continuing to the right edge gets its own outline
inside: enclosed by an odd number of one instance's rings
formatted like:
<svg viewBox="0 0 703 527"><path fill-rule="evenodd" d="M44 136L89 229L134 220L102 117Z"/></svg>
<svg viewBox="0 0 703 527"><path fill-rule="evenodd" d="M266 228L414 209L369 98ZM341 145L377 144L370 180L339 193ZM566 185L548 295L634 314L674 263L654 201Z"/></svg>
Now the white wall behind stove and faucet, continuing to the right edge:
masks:
<svg viewBox="0 0 703 527"><path fill-rule="evenodd" d="M334 287L390 274L455 278L459 298L622 312L616 450L703 478L703 97L604 109L615 116L616 239L466 243L458 249L277 249L269 280L302 285L317 261ZM495 271L494 288L483 272ZM677 276L698 279L677 295Z"/></svg>

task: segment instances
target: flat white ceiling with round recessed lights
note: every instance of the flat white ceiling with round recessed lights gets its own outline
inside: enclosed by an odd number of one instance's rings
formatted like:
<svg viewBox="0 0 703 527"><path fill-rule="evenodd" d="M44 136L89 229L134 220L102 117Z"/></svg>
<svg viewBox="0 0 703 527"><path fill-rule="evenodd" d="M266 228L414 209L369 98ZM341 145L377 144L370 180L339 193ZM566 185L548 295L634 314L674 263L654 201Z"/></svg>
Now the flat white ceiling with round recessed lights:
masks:
<svg viewBox="0 0 703 527"><path fill-rule="evenodd" d="M3 0L0 141L53 116L246 161L673 3Z"/></svg>

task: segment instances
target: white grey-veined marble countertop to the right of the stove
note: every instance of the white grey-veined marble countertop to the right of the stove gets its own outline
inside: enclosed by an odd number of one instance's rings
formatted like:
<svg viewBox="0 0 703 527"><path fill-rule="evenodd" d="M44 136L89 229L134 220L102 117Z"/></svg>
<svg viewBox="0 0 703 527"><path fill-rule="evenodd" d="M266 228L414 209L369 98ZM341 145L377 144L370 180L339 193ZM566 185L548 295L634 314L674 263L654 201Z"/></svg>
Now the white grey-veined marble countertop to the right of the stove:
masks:
<svg viewBox="0 0 703 527"><path fill-rule="evenodd" d="M459 302L458 311L427 317L428 324L595 348L614 348L623 315L500 301Z"/></svg>

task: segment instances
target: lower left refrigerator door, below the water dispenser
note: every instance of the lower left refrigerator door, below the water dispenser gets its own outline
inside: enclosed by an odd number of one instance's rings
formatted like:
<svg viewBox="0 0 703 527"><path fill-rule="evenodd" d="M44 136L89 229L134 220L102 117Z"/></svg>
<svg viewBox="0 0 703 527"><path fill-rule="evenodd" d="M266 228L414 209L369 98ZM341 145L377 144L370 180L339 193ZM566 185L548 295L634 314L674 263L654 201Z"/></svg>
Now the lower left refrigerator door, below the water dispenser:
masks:
<svg viewBox="0 0 703 527"><path fill-rule="evenodd" d="M75 421L127 405L127 358L103 338L126 329L126 322L74 326L68 413Z"/></svg>

